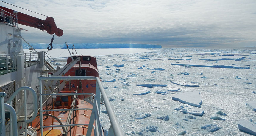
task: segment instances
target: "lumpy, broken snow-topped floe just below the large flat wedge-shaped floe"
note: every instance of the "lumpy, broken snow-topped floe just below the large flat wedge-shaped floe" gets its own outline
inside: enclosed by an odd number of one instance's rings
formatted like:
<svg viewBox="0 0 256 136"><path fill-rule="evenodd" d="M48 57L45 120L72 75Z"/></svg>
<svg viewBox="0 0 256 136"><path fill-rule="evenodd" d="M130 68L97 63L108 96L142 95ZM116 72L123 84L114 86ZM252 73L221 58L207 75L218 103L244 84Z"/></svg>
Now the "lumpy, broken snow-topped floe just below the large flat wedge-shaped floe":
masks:
<svg viewBox="0 0 256 136"><path fill-rule="evenodd" d="M196 115L196 116L203 116L204 111L202 109L199 108L194 108L192 106L188 106L188 105L183 105L183 104L179 104L177 105L174 110L176 111L180 111L182 113L189 113L192 115Z"/></svg>

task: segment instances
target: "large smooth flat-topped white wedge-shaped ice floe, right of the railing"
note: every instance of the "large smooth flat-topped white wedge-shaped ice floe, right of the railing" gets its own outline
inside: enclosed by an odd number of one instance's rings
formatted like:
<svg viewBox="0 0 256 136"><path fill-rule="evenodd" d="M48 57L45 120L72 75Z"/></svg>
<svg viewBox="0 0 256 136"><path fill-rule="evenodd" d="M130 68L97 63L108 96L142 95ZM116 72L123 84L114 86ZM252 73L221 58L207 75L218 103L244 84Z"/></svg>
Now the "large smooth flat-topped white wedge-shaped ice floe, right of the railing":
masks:
<svg viewBox="0 0 256 136"><path fill-rule="evenodd" d="M172 100L179 101L195 107L201 107L202 97L198 91L179 93L172 97Z"/></svg>

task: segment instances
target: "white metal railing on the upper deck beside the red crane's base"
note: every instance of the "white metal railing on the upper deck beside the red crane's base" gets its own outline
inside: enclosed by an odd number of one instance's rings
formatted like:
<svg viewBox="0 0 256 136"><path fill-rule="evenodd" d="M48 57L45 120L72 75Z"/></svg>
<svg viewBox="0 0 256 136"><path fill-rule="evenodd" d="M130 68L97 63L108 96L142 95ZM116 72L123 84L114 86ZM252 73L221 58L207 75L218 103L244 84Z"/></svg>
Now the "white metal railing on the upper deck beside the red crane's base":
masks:
<svg viewBox="0 0 256 136"><path fill-rule="evenodd" d="M0 9L0 22L7 22L15 26L18 25L17 16L3 9Z"/></svg>

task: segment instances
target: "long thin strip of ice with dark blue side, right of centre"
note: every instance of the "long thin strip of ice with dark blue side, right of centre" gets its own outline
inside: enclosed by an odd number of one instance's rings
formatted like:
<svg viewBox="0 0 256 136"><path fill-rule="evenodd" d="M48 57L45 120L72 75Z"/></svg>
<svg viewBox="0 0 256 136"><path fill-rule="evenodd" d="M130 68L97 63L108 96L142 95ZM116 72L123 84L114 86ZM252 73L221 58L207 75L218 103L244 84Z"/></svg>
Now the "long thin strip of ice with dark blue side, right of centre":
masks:
<svg viewBox="0 0 256 136"><path fill-rule="evenodd" d="M177 64L171 63L171 65L178 66L191 66L191 67L214 67L214 68L227 68L227 69L250 69L250 67L235 67L235 66L225 66L225 65L195 65L195 64Z"/></svg>

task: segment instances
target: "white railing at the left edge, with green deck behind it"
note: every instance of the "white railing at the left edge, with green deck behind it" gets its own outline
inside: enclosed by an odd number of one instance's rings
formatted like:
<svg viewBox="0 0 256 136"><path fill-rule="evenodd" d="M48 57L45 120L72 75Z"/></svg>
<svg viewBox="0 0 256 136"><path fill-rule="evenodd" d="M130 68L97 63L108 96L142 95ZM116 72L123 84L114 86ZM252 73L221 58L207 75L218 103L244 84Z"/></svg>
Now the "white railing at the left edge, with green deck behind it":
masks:
<svg viewBox="0 0 256 136"><path fill-rule="evenodd" d="M0 54L0 75L17 70L15 54Z"/></svg>

